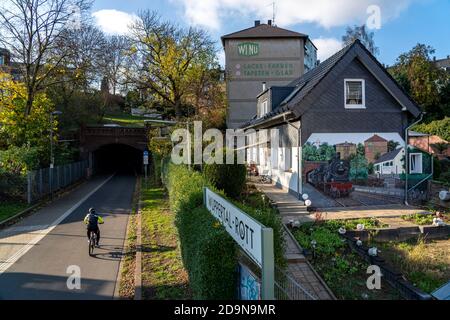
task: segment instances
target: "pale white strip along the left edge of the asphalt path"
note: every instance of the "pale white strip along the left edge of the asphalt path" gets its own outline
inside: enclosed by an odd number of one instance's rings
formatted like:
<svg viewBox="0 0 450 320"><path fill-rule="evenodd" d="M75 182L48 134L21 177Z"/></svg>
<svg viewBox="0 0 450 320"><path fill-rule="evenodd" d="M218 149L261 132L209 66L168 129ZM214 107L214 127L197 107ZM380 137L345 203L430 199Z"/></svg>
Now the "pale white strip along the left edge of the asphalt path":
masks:
<svg viewBox="0 0 450 320"><path fill-rule="evenodd" d="M45 229L40 230L39 235L34 237L30 242L28 242L26 245L24 245L22 248L20 248L15 254L13 254L11 257L8 258L3 263L0 263L0 276L8 270L9 267L11 267L14 263L16 263L17 260L19 260L25 253L27 253L33 246L41 241L49 232L51 232L58 224L60 224L65 218L67 218L72 212L74 212L83 202L85 202L90 196L92 196L94 193L96 193L101 187L105 185L111 178L114 177L114 175L108 177L106 180L104 180L102 183L100 183L94 190L89 192L86 196L84 196L80 201L78 201L75 205L73 205L69 210L64 212L62 216L60 216L58 219L53 221L48 226L45 226Z"/></svg>

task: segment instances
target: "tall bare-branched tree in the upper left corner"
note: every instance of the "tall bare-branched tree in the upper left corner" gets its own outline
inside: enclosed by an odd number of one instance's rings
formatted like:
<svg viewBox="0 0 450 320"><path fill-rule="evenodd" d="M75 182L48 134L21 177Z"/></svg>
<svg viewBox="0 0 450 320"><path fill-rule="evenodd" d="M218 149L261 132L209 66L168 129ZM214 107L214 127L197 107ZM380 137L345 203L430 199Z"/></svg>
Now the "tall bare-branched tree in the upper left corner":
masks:
<svg viewBox="0 0 450 320"><path fill-rule="evenodd" d="M57 40L72 18L91 5L91 0L2 0L0 45L7 48L21 66L26 86L26 107L30 115L36 94L64 56L55 56ZM80 16L78 16L80 14Z"/></svg>

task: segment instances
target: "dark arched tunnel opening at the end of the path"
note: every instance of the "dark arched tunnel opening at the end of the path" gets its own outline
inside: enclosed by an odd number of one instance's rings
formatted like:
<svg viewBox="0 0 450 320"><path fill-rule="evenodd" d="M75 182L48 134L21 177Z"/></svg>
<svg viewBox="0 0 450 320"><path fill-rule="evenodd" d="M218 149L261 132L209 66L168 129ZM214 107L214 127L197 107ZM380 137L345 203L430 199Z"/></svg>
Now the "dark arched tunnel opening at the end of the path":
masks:
<svg viewBox="0 0 450 320"><path fill-rule="evenodd" d="M142 151L125 144L108 144L93 152L94 172L141 174Z"/></svg>

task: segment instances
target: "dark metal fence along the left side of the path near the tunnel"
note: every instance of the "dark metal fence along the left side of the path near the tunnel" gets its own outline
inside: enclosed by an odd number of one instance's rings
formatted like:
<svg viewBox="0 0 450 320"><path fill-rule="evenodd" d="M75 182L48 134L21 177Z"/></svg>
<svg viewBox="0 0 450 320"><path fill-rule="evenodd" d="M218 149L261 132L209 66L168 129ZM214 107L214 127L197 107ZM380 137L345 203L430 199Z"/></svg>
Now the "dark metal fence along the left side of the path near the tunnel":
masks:
<svg viewBox="0 0 450 320"><path fill-rule="evenodd" d="M86 177L88 161L79 161L66 165L56 166L51 172L50 168L43 168L28 172L27 175L27 201L28 203L49 195L51 192L65 188Z"/></svg>

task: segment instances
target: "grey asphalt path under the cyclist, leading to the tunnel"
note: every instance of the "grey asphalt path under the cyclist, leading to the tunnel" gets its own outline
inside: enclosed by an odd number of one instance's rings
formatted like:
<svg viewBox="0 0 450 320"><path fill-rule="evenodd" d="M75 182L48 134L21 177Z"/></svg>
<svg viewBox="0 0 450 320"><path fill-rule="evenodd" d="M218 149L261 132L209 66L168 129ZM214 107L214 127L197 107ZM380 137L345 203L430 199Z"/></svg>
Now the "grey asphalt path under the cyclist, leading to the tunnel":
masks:
<svg viewBox="0 0 450 320"><path fill-rule="evenodd" d="M80 204L0 274L0 299L112 299L135 183L134 176L116 175ZM92 257L83 224L90 207L105 220Z"/></svg>

